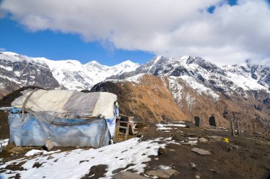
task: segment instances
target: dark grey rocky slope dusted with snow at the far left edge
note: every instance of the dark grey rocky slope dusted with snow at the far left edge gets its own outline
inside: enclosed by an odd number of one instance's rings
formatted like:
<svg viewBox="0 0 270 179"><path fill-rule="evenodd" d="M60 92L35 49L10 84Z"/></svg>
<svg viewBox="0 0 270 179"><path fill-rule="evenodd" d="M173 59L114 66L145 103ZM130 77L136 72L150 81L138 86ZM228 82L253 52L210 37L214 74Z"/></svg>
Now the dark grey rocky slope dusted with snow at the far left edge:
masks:
<svg viewBox="0 0 270 179"><path fill-rule="evenodd" d="M59 88L47 64L12 52L0 52L0 97L22 86Z"/></svg>

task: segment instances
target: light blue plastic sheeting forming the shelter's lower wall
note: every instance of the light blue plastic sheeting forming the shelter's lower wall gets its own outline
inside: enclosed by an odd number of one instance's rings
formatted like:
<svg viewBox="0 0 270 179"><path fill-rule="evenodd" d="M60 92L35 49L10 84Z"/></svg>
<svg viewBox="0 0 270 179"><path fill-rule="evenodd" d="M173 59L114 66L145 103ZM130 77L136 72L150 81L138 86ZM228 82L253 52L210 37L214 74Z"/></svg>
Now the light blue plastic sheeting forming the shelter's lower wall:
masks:
<svg viewBox="0 0 270 179"><path fill-rule="evenodd" d="M48 122L37 120L30 113L25 114L25 120L21 120L22 114L9 113L10 140L16 146L44 146L45 139L50 137L54 146L92 146L99 147L99 142L104 131L102 146L109 144L110 130L114 134L115 117L110 120L94 120L85 125L56 126ZM55 119L56 122L63 119ZM66 123L82 120L64 120ZM111 122L111 127L109 123ZM105 128L104 128L105 127ZM109 130L110 129L110 130Z"/></svg>

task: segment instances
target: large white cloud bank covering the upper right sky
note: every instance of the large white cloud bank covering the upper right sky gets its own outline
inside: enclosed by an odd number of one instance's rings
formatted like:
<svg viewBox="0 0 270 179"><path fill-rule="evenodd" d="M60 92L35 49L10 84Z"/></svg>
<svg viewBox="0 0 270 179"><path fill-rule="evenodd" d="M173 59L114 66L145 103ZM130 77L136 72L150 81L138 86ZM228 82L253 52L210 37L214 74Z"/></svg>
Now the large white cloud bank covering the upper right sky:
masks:
<svg viewBox="0 0 270 179"><path fill-rule="evenodd" d="M208 13L212 5L215 11ZM6 0L0 10L28 30L77 33L109 49L270 64L270 7L264 0L239 0L237 6L225 0Z"/></svg>

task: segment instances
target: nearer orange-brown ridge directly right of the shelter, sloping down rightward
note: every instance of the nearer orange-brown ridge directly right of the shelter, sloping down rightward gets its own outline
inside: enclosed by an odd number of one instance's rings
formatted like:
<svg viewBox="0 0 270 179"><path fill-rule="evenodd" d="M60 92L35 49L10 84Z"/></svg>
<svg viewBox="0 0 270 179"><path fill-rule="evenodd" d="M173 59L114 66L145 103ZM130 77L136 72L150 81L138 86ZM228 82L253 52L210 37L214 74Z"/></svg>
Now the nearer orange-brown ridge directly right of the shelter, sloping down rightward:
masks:
<svg viewBox="0 0 270 179"><path fill-rule="evenodd" d="M145 75L141 83L110 81L91 91L108 91L118 96L120 113L149 122L188 120L173 100L170 91L157 76Z"/></svg>

